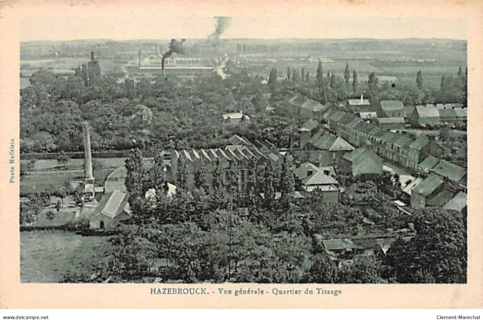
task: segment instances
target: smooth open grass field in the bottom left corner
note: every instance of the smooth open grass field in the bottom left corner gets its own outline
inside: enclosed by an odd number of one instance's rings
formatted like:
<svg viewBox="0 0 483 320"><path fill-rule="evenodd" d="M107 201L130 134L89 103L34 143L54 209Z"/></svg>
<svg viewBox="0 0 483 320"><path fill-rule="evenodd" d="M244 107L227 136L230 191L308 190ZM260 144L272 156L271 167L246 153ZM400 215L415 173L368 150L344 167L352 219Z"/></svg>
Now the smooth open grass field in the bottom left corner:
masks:
<svg viewBox="0 0 483 320"><path fill-rule="evenodd" d="M62 231L20 233L20 281L56 283L99 261L110 247L108 236L82 236Z"/></svg>

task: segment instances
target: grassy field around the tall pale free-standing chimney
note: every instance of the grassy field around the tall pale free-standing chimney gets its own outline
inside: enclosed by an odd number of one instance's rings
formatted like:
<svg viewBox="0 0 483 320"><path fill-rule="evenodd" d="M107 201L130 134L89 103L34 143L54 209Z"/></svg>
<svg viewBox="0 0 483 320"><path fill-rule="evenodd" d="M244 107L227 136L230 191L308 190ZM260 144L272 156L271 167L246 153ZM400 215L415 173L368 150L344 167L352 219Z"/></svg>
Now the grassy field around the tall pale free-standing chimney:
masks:
<svg viewBox="0 0 483 320"><path fill-rule="evenodd" d="M102 158L97 159L102 165L94 171L96 185L103 185L107 175L115 168L124 166L126 158ZM20 160L22 165L27 166L28 160ZM151 168L152 159L143 160L144 168ZM71 159L65 166L60 166L55 159L37 160L34 170L28 172L20 182L20 193L42 192L54 186L60 189L65 182L84 178L84 159Z"/></svg>

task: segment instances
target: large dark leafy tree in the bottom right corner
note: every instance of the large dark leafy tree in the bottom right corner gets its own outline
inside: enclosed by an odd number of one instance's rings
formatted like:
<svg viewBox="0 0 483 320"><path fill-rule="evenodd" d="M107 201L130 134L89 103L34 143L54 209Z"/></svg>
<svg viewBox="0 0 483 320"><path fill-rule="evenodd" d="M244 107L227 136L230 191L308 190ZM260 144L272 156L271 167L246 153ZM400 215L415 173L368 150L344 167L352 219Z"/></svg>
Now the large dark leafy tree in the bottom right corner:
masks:
<svg viewBox="0 0 483 320"><path fill-rule="evenodd" d="M417 235L387 251L390 276L401 283L466 283L466 214L440 208L414 213Z"/></svg>

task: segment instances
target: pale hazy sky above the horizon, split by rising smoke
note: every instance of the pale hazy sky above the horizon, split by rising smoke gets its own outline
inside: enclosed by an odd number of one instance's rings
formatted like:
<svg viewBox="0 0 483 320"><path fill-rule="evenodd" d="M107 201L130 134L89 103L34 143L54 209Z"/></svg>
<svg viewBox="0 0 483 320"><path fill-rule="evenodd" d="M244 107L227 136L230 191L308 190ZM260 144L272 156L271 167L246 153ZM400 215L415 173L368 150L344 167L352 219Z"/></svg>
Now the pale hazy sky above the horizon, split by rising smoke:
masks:
<svg viewBox="0 0 483 320"><path fill-rule="evenodd" d="M20 20L20 40L206 38L213 16L176 18L123 12L106 15L35 15ZM221 38L447 38L467 39L467 21L425 17L254 15L233 16Z"/></svg>

